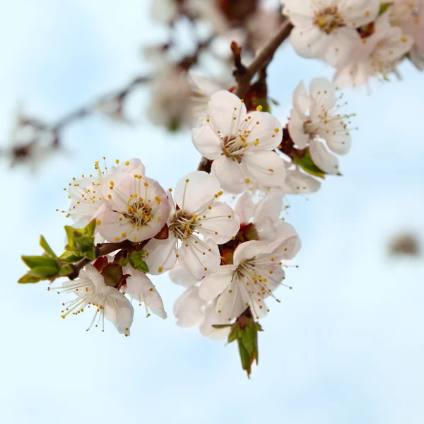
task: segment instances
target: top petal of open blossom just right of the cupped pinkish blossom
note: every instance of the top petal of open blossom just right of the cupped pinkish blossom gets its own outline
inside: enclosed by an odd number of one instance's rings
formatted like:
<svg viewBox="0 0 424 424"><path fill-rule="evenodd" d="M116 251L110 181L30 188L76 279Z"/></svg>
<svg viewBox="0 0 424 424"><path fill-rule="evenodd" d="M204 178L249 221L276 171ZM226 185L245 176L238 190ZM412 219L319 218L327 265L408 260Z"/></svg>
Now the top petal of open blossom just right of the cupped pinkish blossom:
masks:
<svg viewBox="0 0 424 424"><path fill-rule="evenodd" d="M220 192L218 178L207 172L190 172L178 180L175 187L175 203L189 213L203 211Z"/></svg>

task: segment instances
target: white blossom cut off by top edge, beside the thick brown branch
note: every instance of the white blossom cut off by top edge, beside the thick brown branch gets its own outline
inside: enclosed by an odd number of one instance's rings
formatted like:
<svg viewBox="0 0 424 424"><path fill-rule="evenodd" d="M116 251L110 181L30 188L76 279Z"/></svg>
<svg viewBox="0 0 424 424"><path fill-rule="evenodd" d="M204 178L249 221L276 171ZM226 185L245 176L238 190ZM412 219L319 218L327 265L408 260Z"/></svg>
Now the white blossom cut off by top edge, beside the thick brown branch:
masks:
<svg viewBox="0 0 424 424"><path fill-rule="evenodd" d="M335 66L350 54L360 35L356 28L371 23L379 0L283 0L283 14L294 27L290 40L303 57L325 59Z"/></svg>

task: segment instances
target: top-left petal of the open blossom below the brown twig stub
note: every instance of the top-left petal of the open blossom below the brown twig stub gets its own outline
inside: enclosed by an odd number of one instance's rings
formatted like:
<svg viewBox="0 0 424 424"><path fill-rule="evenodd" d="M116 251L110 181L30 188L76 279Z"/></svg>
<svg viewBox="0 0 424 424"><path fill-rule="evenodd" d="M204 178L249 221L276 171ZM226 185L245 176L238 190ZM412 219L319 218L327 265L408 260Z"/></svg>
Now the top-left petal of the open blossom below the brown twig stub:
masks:
<svg viewBox="0 0 424 424"><path fill-rule="evenodd" d="M223 136L236 134L239 122L246 117L246 106L237 95L218 91L209 102L209 116L215 131L220 131Z"/></svg>

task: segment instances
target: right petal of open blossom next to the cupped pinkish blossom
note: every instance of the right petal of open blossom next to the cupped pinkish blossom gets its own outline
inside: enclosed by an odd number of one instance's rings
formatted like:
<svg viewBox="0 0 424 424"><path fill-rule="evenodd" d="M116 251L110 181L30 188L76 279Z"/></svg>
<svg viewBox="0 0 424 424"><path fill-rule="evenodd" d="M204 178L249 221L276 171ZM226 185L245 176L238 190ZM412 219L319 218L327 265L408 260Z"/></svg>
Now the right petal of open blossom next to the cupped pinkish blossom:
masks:
<svg viewBox="0 0 424 424"><path fill-rule="evenodd" d="M240 230L240 218L227 204L214 201L203 213L196 221L196 230L218 245L231 240Z"/></svg>

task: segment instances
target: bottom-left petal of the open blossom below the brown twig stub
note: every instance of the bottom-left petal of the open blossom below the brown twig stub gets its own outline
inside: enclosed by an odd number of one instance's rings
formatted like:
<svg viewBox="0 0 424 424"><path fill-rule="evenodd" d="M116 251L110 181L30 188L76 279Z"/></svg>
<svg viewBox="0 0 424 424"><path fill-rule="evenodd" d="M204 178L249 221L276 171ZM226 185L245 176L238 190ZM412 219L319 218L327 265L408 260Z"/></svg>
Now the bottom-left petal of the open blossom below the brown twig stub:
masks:
<svg viewBox="0 0 424 424"><path fill-rule="evenodd" d="M220 186L225 192L237 194L249 188L237 160L221 156L218 160L213 161L211 173L218 178Z"/></svg>

